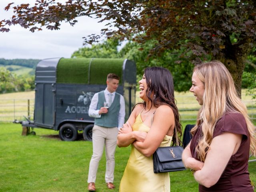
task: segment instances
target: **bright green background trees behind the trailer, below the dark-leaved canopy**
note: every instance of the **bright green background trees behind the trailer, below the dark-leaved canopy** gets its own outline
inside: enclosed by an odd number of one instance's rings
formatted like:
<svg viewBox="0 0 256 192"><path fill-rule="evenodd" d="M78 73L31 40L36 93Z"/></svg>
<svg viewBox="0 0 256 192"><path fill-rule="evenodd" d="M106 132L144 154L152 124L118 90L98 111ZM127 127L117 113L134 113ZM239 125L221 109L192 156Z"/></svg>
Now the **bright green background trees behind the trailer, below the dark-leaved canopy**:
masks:
<svg viewBox="0 0 256 192"><path fill-rule="evenodd" d="M154 40L148 40L140 45L137 42L129 41L120 48L120 43L116 39L108 39L102 43L91 46L90 48L79 48L71 57L76 58L127 58L134 60L137 65L137 81L142 78L144 68L148 66L161 66L167 68L174 78L174 89L178 92L188 91L191 87L190 79L194 65L189 62L189 54L179 58L184 50L166 50L161 57L150 57L148 54L154 47ZM142 50L139 50L142 48ZM210 60L210 56L209 60ZM248 89L248 94L253 94L256 88L256 57L249 55L242 75L242 88Z"/></svg>

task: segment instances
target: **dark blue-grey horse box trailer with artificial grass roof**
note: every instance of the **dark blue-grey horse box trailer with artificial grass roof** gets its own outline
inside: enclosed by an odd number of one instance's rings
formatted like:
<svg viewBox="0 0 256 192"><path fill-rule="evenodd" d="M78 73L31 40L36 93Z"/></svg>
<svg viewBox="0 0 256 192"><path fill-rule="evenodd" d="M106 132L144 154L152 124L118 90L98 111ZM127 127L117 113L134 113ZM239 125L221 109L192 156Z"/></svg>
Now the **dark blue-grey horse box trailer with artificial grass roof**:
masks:
<svg viewBox="0 0 256 192"><path fill-rule="evenodd" d="M109 73L120 77L116 92L124 96L127 120L136 96L136 64L132 60L51 58L36 66L34 120L20 122L23 130L58 130L64 141L76 140L78 131L83 131L84 140L92 140L94 118L88 116L88 109L92 96L106 88Z"/></svg>

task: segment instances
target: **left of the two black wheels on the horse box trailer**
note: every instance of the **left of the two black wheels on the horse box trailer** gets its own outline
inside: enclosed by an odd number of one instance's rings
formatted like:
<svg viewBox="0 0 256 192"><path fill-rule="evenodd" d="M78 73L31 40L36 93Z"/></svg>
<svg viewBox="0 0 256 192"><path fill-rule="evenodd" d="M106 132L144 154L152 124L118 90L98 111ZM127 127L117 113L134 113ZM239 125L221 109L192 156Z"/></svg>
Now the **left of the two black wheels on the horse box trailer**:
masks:
<svg viewBox="0 0 256 192"><path fill-rule="evenodd" d="M74 141L77 139L77 130L73 124L66 123L60 127L59 136L62 141Z"/></svg>

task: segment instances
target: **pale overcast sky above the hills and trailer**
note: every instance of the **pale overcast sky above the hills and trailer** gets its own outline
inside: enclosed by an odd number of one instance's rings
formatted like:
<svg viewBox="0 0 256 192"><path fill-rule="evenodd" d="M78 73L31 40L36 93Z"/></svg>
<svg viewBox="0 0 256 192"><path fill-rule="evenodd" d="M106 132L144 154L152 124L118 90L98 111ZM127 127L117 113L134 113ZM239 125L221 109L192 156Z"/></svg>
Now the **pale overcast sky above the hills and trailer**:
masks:
<svg viewBox="0 0 256 192"><path fill-rule="evenodd" d="M66 0L59 0L65 2ZM12 11L6 12L4 7L8 3L15 5L21 3L34 4L35 0L0 0L0 20L9 19ZM83 45L82 37L96 33L104 24L88 17L77 18L78 23L70 26L62 23L60 30L51 31L43 28L42 31L30 32L20 26L12 26L9 32L0 32L0 58L5 59L45 59L54 57L70 58L72 53Z"/></svg>

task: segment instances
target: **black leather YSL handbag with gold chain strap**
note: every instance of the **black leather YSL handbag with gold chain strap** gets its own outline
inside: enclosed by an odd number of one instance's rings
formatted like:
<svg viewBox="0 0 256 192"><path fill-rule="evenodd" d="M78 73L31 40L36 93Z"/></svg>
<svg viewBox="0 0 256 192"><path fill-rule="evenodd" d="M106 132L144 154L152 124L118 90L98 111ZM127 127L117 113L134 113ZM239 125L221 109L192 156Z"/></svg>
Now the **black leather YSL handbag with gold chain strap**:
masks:
<svg viewBox="0 0 256 192"><path fill-rule="evenodd" d="M153 118L153 117L152 117ZM151 120L153 122L153 120ZM175 123L175 119L174 119ZM182 162L183 147L179 146L178 133L175 123L177 146L158 147L153 154L154 173L186 170Z"/></svg>

